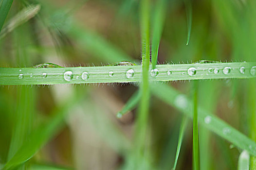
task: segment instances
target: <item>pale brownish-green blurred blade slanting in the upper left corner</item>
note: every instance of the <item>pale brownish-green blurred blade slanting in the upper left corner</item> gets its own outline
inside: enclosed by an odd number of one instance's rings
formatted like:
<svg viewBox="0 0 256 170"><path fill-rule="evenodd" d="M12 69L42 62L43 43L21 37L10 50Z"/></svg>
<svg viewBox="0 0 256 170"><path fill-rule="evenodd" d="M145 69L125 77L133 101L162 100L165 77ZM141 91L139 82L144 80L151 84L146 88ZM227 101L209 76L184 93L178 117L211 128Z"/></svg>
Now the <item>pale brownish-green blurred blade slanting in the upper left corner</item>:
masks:
<svg viewBox="0 0 256 170"><path fill-rule="evenodd" d="M0 39L3 38L6 34L12 32L19 25L35 17L37 13L40 11L40 8L41 6L39 4L29 5L28 7L18 12L18 14L12 17L3 27L2 31L0 32Z"/></svg>

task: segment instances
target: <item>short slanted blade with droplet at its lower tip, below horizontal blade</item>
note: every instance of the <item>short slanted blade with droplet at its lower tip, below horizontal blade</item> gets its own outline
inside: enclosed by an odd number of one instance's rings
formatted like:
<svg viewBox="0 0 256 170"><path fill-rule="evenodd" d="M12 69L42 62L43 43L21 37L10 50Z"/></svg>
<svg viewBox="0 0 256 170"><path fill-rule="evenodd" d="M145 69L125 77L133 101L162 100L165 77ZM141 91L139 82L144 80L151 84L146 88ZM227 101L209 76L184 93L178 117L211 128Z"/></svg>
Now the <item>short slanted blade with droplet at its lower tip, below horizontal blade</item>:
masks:
<svg viewBox="0 0 256 170"><path fill-rule="evenodd" d="M135 93L132 94L128 102L126 102L125 106L120 110L117 114L117 118L122 118L123 115L125 115L128 111L135 108L135 106L138 104L138 102L141 100L141 91L138 90Z"/></svg>

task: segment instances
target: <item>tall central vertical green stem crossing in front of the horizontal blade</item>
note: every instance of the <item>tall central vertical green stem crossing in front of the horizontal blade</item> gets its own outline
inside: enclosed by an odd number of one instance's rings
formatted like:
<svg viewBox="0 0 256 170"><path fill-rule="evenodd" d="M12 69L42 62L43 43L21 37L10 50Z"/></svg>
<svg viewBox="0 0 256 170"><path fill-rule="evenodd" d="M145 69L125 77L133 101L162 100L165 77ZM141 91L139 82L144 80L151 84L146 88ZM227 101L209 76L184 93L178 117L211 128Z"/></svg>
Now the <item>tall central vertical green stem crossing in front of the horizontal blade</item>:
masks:
<svg viewBox="0 0 256 170"><path fill-rule="evenodd" d="M142 42L142 76L143 81L140 85L140 90L142 91L142 98L139 107L139 114L136 121L136 131L135 131L135 157L137 158L137 163L135 165L136 169L138 166L144 167L144 161L146 160L146 129L147 129L147 119L148 119L148 108L149 108L149 83L148 83L148 69L149 69L149 9L150 0L141 0L140 3L140 24L141 24L141 42ZM148 141L148 140L147 140ZM141 160L142 159L142 160ZM141 160L141 161L139 161ZM145 167L144 167L145 168Z"/></svg>

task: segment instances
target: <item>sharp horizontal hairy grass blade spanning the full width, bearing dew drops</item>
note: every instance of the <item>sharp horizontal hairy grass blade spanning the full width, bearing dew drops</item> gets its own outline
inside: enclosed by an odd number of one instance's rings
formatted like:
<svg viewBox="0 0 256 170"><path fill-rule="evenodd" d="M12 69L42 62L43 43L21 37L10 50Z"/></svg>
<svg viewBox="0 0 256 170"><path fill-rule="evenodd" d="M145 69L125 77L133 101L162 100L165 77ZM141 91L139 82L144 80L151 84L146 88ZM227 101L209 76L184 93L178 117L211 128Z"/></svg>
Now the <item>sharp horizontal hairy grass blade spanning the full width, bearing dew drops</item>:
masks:
<svg viewBox="0 0 256 170"><path fill-rule="evenodd" d="M240 72L241 67L245 70L243 73ZM156 68L157 69L154 69L153 72L151 72L151 66L149 69L144 68L146 73L142 73L142 66L0 68L0 85L141 82L145 75L147 79L152 82L228 78L244 79L256 77L256 63L249 62L157 65ZM189 68L196 69L193 75ZM88 74L88 76L82 77L84 72L86 72L85 74ZM64 78L64 75L67 75L69 79L65 79L67 77Z"/></svg>

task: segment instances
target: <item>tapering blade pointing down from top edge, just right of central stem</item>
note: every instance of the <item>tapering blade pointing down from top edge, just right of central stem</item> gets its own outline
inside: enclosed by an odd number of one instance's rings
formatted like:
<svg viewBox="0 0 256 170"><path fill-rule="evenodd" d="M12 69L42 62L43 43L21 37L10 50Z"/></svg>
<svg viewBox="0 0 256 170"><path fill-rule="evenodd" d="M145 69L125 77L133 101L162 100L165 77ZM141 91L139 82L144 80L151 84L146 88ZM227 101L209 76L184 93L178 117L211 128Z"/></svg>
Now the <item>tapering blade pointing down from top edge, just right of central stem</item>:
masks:
<svg viewBox="0 0 256 170"><path fill-rule="evenodd" d="M157 64L158 49L163 32L167 0L157 0L152 22L152 43L151 43L151 63L154 69Z"/></svg>

